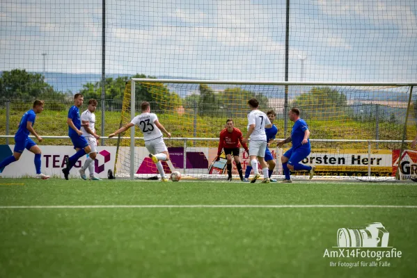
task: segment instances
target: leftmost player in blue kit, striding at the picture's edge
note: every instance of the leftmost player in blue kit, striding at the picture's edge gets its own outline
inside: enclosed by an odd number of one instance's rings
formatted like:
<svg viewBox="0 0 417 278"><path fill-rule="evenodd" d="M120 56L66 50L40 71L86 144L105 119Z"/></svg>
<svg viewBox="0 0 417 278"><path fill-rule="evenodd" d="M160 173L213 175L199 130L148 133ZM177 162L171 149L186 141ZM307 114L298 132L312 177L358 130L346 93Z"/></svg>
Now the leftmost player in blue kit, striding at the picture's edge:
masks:
<svg viewBox="0 0 417 278"><path fill-rule="evenodd" d="M33 140L29 138L29 133L32 133L39 142L42 142L42 138L38 136L38 133L33 129L33 124L35 124L36 114L43 111L43 105L43 101L36 100L33 102L33 109L27 111L22 116L22 120L20 120L19 123L19 129L17 129L15 134L15 149L13 149L13 156L9 156L0 162L0 173L3 170L3 167L18 161L20 156L22 156L24 149L27 149L29 152L35 154L36 179L49 179L49 176L40 172L40 148L36 145L36 142L33 142Z"/></svg>

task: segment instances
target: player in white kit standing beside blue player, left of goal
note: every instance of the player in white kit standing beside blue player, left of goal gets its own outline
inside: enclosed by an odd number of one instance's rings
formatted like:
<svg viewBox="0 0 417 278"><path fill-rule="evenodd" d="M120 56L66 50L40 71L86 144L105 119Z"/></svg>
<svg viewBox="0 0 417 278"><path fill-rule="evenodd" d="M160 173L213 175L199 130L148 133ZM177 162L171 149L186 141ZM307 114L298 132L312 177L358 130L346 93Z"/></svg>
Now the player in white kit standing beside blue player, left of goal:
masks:
<svg viewBox="0 0 417 278"><path fill-rule="evenodd" d="M91 147L91 152L88 154L84 166L79 170L81 179L87 179L86 170L90 172L90 179L93 181L100 181L99 178L94 175L94 160L97 156L97 140L100 139L100 136L95 133L95 108L97 108L97 101L95 99L90 99L88 101L87 110L81 114L81 123L88 124L88 126L81 126L81 131L84 138L86 138L88 145Z"/></svg>

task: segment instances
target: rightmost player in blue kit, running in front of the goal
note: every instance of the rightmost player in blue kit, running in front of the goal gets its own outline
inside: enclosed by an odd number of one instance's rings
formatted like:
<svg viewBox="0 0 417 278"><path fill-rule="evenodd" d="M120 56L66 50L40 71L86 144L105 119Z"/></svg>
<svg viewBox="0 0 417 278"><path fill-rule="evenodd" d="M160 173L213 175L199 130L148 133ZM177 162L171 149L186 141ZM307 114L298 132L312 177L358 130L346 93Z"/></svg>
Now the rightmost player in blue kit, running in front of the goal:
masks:
<svg viewBox="0 0 417 278"><path fill-rule="evenodd" d="M278 142L278 147L281 147L285 143L292 142L291 149L288 149L283 156L281 156L281 162L283 163L283 172L285 174L285 179L283 183L292 183L290 177L290 170L296 171L309 171L310 179L314 176L315 166L311 167L308 165L301 164L304 158L308 156L311 152L310 147L310 131L308 130L308 125L306 121L299 117L300 111L298 108L292 108L288 112L288 118L294 122L292 126L291 136Z"/></svg>

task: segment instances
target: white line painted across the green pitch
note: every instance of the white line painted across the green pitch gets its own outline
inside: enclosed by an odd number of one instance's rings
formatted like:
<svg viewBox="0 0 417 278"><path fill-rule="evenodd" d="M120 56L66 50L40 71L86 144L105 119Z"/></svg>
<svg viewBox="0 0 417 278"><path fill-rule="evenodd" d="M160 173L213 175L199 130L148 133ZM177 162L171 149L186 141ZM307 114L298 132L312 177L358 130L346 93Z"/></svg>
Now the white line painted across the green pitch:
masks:
<svg viewBox="0 0 417 278"><path fill-rule="evenodd" d="M417 208L417 206L365 204L150 204L150 205L87 205L87 206L0 206L8 208Z"/></svg>

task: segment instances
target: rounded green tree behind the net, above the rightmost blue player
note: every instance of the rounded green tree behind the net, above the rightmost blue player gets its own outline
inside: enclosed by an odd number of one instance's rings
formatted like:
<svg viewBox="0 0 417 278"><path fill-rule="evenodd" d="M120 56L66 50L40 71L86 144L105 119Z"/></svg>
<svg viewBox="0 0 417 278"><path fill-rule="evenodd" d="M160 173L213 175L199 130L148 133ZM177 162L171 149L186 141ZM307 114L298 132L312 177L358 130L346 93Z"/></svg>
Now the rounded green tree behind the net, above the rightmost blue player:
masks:
<svg viewBox="0 0 417 278"><path fill-rule="evenodd" d="M332 118L346 119L352 115L347 105L347 97L329 87L314 87L309 92L299 95L290 107L301 110L301 117L306 119L324 120ZM350 112L350 113L349 113Z"/></svg>

